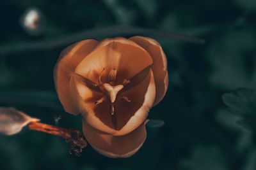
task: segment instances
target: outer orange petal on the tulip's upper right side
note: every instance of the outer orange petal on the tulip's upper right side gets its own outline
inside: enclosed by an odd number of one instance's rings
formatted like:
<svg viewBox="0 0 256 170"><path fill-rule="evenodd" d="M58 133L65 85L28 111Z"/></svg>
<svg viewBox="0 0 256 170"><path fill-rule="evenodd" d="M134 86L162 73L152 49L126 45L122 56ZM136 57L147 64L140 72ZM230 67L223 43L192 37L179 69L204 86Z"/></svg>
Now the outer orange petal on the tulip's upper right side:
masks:
<svg viewBox="0 0 256 170"><path fill-rule="evenodd" d="M166 56L161 45L159 45L159 43L152 38L134 36L129 39L143 47L152 56L152 70L156 82L156 99L154 101L154 105L156 105L163 99L168 88Z"/></svg>

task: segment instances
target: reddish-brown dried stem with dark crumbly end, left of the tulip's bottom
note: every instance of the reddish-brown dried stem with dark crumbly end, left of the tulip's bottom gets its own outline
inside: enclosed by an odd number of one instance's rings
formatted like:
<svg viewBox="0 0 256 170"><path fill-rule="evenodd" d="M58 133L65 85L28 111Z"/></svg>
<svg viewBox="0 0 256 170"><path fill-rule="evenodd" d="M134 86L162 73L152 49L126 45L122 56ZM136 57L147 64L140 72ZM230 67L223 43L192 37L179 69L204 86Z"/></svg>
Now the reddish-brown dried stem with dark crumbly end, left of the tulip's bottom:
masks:
<svg viewBox="0 0 256 170"><path fill-rule="evenodd" d="M86 139L80 131L75 129L64 129L53 125L42 124L40 122L31 122L28 128L34 131L41 131L65 139L70 145L70 153L74 152L77 157L83 152L83 148L87 146Z"/></svg>

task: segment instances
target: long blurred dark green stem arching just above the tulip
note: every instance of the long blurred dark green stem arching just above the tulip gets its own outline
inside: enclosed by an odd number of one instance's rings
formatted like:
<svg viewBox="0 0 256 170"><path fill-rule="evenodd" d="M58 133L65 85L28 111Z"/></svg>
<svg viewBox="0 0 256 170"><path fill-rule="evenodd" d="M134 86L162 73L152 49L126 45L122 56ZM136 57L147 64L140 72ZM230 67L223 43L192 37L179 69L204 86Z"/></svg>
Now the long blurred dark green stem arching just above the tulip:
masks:
<svg viewBox="0 0 256 170"><path fill-rule="evenodd" d="M204 39L197 39L185 34L160 32L154 29L145 29L141 27L125 27L125 26L111 26L104 28L89 29L86 31L76 32L63 38L56 38L51 40L40 40L35 42L15 43L10 45L0 45L0 53L8 55L19 52L29 52L37 50L45 50L58 46L65 46L82 39L90 38L107 38L111 36L125 36L125 35L151 35L163 36L164 38L175 38L192 43L204 43Z"/></svg>

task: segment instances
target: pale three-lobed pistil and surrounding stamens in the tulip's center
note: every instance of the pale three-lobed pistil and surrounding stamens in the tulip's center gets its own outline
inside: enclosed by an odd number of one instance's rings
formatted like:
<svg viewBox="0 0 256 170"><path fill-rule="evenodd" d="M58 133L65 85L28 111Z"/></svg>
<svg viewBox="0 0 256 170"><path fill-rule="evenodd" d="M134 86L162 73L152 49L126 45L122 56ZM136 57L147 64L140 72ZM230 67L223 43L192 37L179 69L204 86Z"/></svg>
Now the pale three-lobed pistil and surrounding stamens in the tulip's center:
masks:
<svg viewBox="0 0 256 170"><path fill-rule="evenodd" d="M124 79L123 83L120 85L114 85L116 80L116 69L111 69L108 74L108 83L102 83L102 75L105 71L105 68L102 70L102 72L99 75L97 86L100 87L100 90L106 94L106 96L100 98L99 100L95 101L95 104L103 103L107 100L107 97L111 104L111 115L114 115L115 113L115 104L116 104L116 97L121 93L122 89L124 89L124 86L130 83L130 80ZM120 97L121 99L124 99L124 101L131 102L131 99L127 96Z"/></svg>

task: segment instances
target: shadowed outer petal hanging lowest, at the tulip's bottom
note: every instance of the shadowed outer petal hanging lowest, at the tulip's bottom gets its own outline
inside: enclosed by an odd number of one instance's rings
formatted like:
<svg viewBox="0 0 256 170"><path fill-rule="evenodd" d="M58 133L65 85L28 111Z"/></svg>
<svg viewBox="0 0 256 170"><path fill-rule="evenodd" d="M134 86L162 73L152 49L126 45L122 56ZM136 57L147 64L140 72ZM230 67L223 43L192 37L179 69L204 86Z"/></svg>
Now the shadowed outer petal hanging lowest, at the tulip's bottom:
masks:
<svg viewBox="0 0 256 170"><path fill-rule="evenodd" d="M97 152L111 158L131 157L143 145L147 131L145 124L142 123L137 129L124 136L112 136L105 132L98 131L88 125L83 118L83 132L88 143L97 150Z"/></svg>

